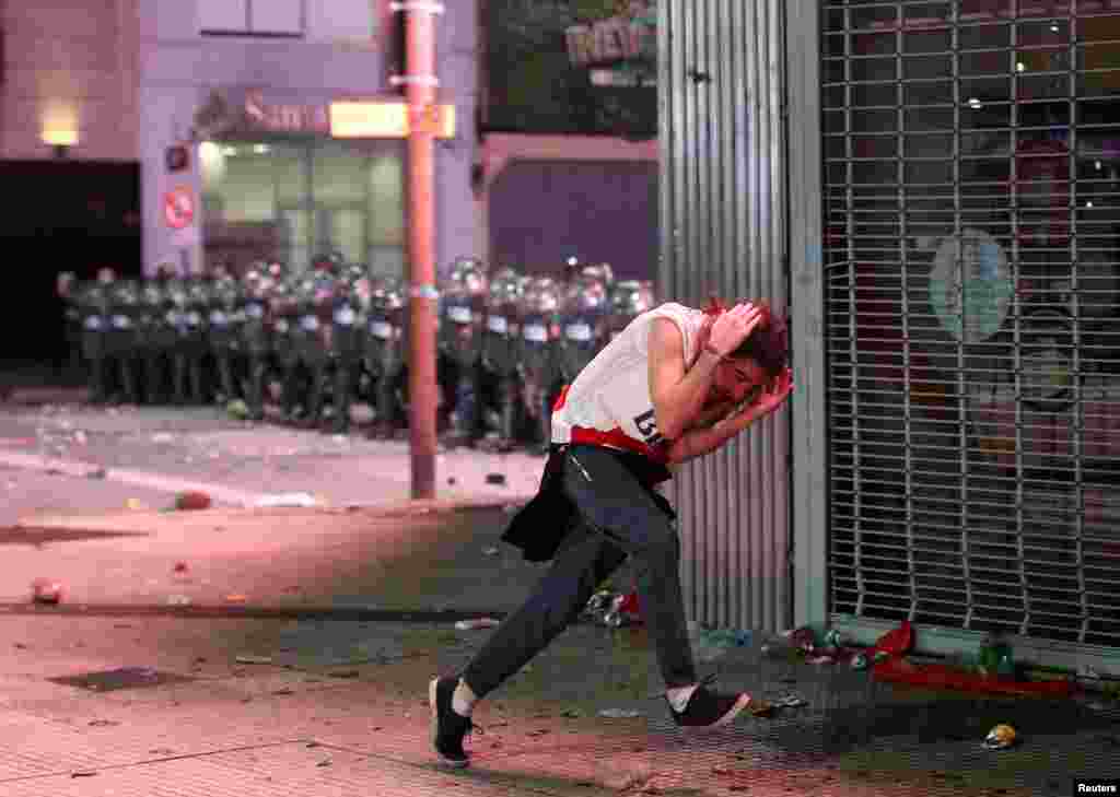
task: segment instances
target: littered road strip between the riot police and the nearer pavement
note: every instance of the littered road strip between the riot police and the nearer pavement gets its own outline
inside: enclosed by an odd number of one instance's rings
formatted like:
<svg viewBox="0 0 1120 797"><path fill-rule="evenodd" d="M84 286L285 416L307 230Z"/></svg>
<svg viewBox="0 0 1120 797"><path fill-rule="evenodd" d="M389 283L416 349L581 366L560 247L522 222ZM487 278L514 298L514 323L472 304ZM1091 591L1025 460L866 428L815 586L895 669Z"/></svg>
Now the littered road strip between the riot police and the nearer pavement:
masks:
<svg viewBox="0 0 1120 797"><path fill-rule="evenodd" d="M524 501L544 460L470 449L437 457L437 498ZM407 441L329 435L234 421L215 409L38 406L0 410L0 527L75 509L160 509L177 493L218 507L293 496L333 506L385 506L411 497Z"/></svg>

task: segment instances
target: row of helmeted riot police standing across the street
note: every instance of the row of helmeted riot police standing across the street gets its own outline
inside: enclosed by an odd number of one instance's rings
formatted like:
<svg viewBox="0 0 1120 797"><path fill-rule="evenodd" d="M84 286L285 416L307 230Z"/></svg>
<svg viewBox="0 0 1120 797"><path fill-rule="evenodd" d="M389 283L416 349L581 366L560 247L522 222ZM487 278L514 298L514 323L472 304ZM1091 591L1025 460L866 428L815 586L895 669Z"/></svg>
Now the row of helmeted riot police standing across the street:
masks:
<svg viewBox="0 0 1120 797"><path fill-rule="evenodd" d="M256 263L120 280L63 274L67 343L95 403L217 403L251 420L351 431L354 403L370 437L408 426L407 285L337 256L308 271ZM437 378L445 442L543 450L564 384L635 316L650 282L615 281L607 264L557 276L493 273L459 259L440 287Z"/></svg>

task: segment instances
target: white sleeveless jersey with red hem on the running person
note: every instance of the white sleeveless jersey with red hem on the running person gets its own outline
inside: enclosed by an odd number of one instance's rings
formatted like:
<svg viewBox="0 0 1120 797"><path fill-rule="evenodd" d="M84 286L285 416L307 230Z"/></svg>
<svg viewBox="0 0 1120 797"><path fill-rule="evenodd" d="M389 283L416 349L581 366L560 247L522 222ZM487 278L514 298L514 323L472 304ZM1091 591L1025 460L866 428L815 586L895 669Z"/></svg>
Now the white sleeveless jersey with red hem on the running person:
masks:
<svg viewBox="0 0 1120 797"><path fill-rule="evenodd" d="M552 411L552 442L591 443L664 461L650 394L650 328L668 318L681 330L684 363L699 355L703 311L668 302L644 312L607 344L564 388Z"/></svg>

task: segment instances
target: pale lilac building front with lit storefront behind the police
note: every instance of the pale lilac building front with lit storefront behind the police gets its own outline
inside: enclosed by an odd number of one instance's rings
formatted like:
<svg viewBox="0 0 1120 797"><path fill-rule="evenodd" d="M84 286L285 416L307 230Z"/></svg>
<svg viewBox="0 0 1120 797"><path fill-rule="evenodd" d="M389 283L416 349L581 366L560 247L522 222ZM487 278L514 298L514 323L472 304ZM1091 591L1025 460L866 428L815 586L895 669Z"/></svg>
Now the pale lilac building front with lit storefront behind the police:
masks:
<svg viewBox="0 0 1120 797"><path fill-rule="evenodd" d="M389 2L139 0L139 11L147 269L196 270L207 257L301 269L337 252L404 275L403 130L342 139L330 125L333 103L403 103L391 82L402 71L401 20ZM437 20L440 103L457 120L437 144L444 264L475 243L475 11L447 3ZM190 162L170 171L168 148L181 143ZM179 215L168 209L177 201Z"/></svg>

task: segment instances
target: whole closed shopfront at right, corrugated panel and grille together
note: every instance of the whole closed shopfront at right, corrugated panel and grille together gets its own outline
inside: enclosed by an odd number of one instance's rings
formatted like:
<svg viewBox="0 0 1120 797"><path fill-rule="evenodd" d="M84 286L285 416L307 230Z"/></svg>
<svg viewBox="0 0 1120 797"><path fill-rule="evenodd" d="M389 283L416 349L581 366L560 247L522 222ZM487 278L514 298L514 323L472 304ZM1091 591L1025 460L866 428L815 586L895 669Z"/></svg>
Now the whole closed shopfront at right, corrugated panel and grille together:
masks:
<svg viewBox="0 0 1120 797"><path fill-rule="evenodd" d="M659 20L663 281L797 390L679 480L693 613L1114 669L1120 3L724 9Z"/></svg>

